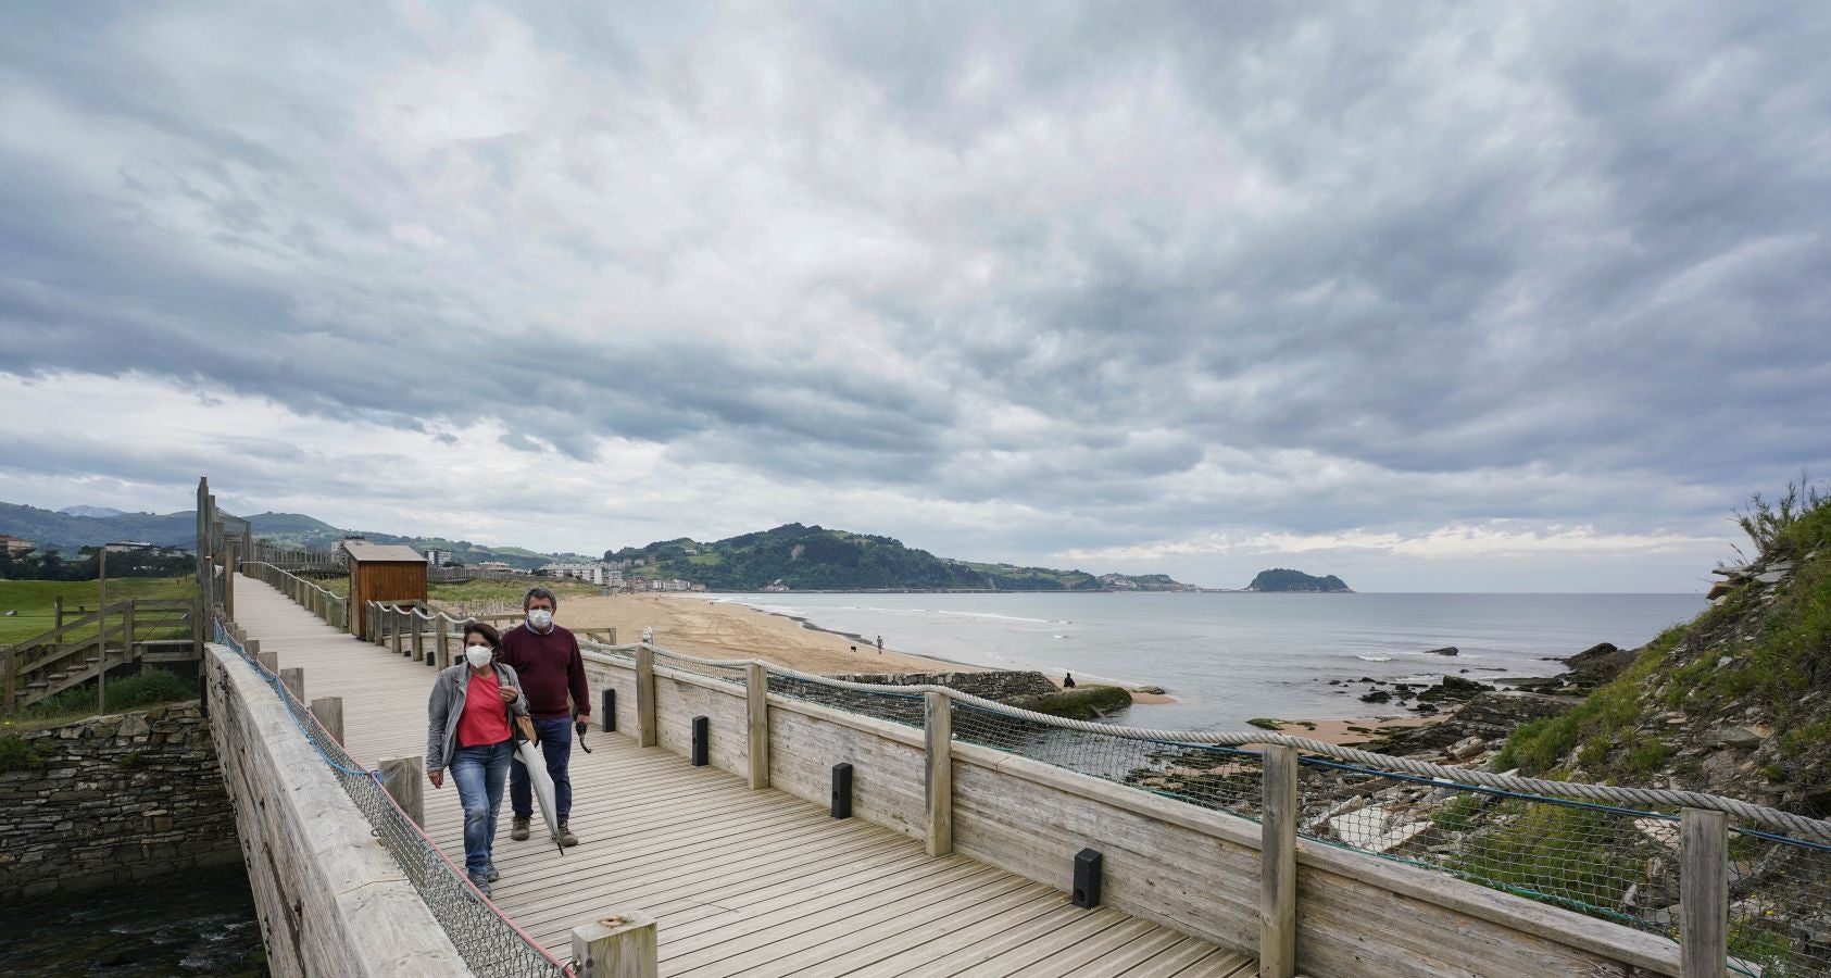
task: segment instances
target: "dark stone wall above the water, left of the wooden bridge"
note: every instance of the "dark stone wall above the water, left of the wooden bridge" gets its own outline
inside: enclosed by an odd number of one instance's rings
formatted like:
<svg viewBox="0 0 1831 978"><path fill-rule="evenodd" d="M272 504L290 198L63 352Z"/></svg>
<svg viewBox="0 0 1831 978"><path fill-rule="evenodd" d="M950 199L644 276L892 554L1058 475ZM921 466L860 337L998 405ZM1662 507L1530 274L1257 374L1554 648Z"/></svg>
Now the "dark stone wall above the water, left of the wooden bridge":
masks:
<svg viewBox="0 0 1831 978"><path fill-rule="evenodd" d="M0 903L242 861L196 700L5 736L38 764L0 771Z"/></svg>

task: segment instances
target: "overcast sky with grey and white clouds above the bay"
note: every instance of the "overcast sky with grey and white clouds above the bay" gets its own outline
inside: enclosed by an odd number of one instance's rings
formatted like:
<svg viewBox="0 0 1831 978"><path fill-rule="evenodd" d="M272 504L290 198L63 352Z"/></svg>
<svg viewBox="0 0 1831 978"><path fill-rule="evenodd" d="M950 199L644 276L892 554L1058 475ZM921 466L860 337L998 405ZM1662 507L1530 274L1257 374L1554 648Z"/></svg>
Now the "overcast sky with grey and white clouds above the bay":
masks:
<svg viewBox="0 0 1831 978"><path fill-rule="evenodd" d="M1824 4L251 7L9 7L0 500L1690 592L1831 474Z"/></svg>

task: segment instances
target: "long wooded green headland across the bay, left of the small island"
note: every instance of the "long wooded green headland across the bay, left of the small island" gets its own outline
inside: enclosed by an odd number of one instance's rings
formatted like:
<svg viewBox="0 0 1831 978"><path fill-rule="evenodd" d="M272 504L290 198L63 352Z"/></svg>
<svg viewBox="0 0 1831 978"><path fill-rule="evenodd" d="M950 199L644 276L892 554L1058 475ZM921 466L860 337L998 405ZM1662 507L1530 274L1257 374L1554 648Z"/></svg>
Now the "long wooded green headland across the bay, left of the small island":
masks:
<svg viewBox="0 0 1831 978"><path fill-rule="evenodd" d="M679 577L712 590L754 592L771 584L791 590L998 590L998 592L1099 592L1110 582L1078 570L1020 568L948 560L926 549L903 546L890 537L850 533L820 526L785 524L727 540L698 542L685 537L645 548L606 551L606 560L645 557L632 577ZM1119 577L1119 575L1111 575ZM1132 590L1179 590L1154 575ZM1133 579L1124 579L1133 581ZM1146 579L1135 579L1146 581Z"/></svg>

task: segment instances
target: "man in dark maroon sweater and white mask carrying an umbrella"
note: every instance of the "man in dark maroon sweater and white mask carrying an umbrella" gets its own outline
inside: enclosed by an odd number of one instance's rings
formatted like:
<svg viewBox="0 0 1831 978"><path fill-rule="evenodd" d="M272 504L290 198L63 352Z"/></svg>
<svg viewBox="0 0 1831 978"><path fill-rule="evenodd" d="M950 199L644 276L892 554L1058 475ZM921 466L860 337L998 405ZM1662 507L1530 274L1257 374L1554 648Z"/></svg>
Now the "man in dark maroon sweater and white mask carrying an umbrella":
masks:
<svg viewBox="0 0 1831 978"><path fill-rule="evenodd" d="M527 694L527 712L533 714L535 731L540 734L540 753L547 762L547 775L553 778L553 815L560 822L558 844L577 846L579 837L566 824L571 815L571 731L573 709L579 720L591 716L591 692L584 681L584 659L579 656L579 639L571 632L553 625L553 612L560 601L546 588L527 588L522 597L522 612L527 621L509 628L502 636L502 663L515 668ZM568 705L566 698L571 696ZM509 804L515 808L515 824L509 839L516 842L527 839L527 822L535 817L535 795L527 784L527 767L522 758L509 764Z"/></svg>

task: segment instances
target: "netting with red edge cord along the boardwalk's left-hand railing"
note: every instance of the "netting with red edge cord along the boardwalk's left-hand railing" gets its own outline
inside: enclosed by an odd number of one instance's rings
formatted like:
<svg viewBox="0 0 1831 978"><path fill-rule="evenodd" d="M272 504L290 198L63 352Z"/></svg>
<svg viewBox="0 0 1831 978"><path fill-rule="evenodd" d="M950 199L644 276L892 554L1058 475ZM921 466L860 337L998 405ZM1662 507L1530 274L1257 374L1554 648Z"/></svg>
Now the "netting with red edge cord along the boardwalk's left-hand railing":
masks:
<svg viewBox="0 0 1831 978"><path fill-rule="evenodd" d="M515 929L483 899L430 839L401 811L383 789L379 773L364 769L344 751L306 703L300 703L278 676L267 672L247 654L242 643L214 623L216 641L233 648L256 676L260 676L286 703L293 723L335 775L355 808L368 819L370 830L394 857L401 872L427 901L432 918L450 938L472 974L489 978L571 978L571 971L553 960L540 945Z"/></svg>

